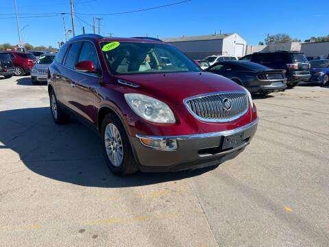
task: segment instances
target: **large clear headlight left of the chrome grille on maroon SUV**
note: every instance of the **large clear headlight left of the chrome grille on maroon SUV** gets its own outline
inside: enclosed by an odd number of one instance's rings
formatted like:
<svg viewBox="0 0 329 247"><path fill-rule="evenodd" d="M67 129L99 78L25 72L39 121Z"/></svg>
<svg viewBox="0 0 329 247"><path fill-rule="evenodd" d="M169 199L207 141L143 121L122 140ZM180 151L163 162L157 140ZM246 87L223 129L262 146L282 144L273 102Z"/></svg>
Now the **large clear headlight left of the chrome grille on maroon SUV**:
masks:
<svg viewBox="0 0 329 247"><path fill-rule="evenodd" d="M134 112L143 119L154 123L175 123L173 112L158 99L139 93L126 93L125 100Z"/></svg>

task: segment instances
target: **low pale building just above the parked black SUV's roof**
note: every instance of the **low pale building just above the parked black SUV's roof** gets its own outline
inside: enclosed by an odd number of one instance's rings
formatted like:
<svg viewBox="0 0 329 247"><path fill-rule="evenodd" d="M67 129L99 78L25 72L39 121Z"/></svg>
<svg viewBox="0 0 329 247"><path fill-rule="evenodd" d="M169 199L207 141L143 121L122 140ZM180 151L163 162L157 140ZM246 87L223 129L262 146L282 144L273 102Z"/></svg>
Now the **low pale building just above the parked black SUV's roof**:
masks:
<svg viewBox="0 0 329 247"><path fill-rule="evenodd" d="M268 51L300 51L302 43L300 42L287 42L280 44L269 45L247 45L246 54L253 54L254 52L268 52Z"/></svg>

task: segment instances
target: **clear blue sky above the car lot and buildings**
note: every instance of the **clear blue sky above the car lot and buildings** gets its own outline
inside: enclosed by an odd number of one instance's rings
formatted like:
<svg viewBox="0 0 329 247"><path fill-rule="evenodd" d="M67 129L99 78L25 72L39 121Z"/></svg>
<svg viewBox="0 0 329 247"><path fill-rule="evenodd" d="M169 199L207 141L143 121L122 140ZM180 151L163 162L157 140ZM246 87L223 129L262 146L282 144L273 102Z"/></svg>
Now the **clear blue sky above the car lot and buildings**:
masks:
<svg viewBox="0 0 329 247"><path fill-rule="evenodd" d="M302 40L329 34L329 0L191 0L130 14L100 15L179 1L183 0L74 0L76 34L82 34L82 26L87 33L93 32L93 16L103 18L104 36L113 33L118 37L170 38L236 32L248 44L257 45L267 34L286 33ZM25 43L58 47L58 41L65 40L62 15L48 13L70 12L70 0L16 0L16 3ZM10 14L14 14L14 0L1 0L0 43L14 45L19 35L15 16ZM55 16L25 18L36 14ZM66 29L72 29L71 15L64 14L64 21Z"/></svg>

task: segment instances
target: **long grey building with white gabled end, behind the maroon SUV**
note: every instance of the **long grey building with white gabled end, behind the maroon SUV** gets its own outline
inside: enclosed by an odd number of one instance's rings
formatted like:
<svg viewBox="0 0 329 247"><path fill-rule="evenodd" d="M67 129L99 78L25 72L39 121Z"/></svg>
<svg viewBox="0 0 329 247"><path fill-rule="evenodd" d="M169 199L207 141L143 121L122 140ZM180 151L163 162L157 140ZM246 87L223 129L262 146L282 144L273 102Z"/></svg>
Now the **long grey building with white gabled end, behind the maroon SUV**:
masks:
<svg viewBox="0 0 329 247"><path fill-rule="evenodd" d="M191 59L202 59L211 55L245 56L247 42L236 33L210 34L202 36L182 36L179 38L162 38Z"/></svg>

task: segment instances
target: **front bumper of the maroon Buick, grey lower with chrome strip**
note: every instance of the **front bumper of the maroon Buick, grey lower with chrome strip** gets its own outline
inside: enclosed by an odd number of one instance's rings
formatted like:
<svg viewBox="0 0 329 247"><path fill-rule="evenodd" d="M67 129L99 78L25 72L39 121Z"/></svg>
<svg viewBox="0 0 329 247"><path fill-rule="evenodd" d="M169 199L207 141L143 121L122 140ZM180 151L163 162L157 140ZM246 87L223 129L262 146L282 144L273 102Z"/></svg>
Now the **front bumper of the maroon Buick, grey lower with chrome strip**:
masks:
<svg viewBox="0 0 329 247"><path fill-rule="evenodd" d="M136 161L143 172L171 172L185 169L197 169L212 165L219 165L228 161L249 144L257 129L258 119L252 123L222 132L205 134L191 134L172 137L141 136L130 137ZM239 145L224 149L224 139L241 137ZM141 143L140 138L154 138L177 141L176 150L157 150Z"/></svg>

